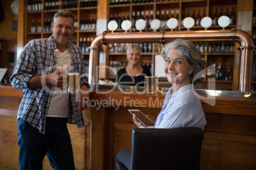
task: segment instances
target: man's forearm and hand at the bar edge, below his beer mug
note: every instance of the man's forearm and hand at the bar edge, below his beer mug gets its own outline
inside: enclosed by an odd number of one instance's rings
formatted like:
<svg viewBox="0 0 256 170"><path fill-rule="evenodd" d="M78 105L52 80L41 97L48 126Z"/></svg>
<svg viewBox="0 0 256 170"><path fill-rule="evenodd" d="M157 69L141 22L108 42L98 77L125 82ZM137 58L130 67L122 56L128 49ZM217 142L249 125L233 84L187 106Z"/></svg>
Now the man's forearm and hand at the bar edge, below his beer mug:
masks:
<svg viewBox="0 0 256 170"><path fill-rule="evenodd" d="M79 112L82 112L85 108L89 106L89 101L90 101L89 88L85 84L82 84L80 93L79 93L79 105L78 105ZM73 101L73 103L75 102L76 101Z"/></svg>

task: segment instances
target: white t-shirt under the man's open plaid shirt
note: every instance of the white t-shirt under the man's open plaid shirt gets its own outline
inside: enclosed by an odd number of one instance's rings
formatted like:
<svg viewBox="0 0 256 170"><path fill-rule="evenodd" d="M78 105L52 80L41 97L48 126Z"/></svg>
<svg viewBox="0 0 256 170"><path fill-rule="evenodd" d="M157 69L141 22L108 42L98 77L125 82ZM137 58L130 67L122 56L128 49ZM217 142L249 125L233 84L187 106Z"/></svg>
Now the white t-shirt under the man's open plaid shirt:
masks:
<svg viewBox="0 0 256 170"><path fill-rule="evenodd" d="M62 67L63 70L68 72L72 62L68 49L63 53L59 49L55 49L54 53L57 58L57 66ZM47 117L68 117L69 93L67 93L66 89L61 90L55 86L53 87L53 91L58 91L58 93L52 94Z"/></svg>

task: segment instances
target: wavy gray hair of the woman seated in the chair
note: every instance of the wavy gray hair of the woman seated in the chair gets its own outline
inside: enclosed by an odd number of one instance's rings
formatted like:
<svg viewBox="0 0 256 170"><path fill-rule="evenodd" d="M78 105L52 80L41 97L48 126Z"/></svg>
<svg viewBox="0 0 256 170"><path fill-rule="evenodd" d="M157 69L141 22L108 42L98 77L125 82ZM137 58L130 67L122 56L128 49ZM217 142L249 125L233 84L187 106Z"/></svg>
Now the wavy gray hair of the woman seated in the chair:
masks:
<svg viewBox="0 0 256 170"><path fill-rule="evenodd" d="M203 77L193 81L193 78L206 67L206 61L203 60L201 53L196 48L195 44L183 39L176 39L175 41L170 42L161 51L164 60L166 60L166 55L170 49L177 49L179 55L187 60L188 67L194 69L193 73L190 74L190 82L194 85L202 83L204 81Z"/></svg>

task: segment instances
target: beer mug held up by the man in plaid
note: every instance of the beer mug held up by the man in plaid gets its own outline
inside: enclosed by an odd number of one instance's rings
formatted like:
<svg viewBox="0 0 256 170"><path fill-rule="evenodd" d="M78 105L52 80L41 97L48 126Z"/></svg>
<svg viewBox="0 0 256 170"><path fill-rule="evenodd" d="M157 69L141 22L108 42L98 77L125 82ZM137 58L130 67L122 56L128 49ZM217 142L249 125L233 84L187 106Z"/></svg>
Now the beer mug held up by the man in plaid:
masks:
<svg viewBox="0 0 256 170"><path fill-rule="evenodd" d="M67 74L68 93L78 93L80 91L80 78L78 72L69 72Z"/></svg>

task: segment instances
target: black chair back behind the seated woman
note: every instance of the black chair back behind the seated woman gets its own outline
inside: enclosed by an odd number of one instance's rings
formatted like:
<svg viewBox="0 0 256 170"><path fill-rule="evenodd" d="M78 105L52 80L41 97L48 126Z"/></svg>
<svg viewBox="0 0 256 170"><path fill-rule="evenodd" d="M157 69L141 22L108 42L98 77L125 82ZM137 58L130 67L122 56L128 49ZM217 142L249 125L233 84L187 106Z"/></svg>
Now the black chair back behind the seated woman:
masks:
<svg viewBox="0 0 256 170"><path fill-rule="evenodd" d="M199 169L201 128L132 129L131 169Z"/></svg>

